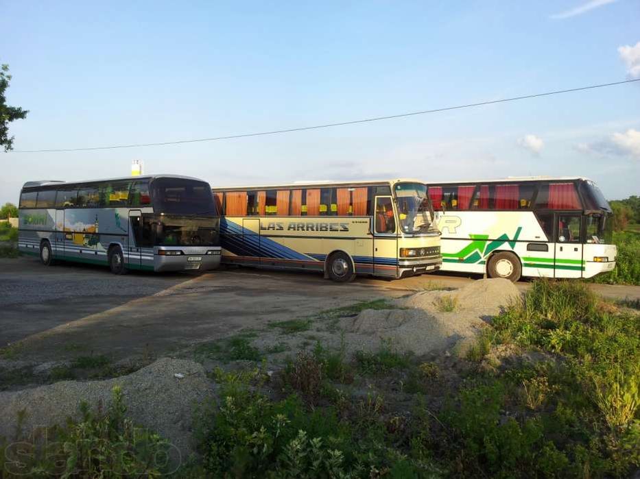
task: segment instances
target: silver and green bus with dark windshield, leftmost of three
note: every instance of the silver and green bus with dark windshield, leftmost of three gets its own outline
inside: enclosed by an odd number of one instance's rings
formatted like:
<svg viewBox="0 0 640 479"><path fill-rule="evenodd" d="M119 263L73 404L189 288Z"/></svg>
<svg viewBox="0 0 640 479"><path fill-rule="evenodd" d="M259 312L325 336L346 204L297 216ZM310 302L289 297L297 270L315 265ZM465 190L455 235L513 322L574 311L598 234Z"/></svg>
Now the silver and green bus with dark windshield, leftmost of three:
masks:
<svg viewBox="0 0 640 479"><path fill-rule="evenodd" d="M191 177L24 184L19 250L57 260L130 269L182 271L220 265L220 214L211 186Z"/></svg>

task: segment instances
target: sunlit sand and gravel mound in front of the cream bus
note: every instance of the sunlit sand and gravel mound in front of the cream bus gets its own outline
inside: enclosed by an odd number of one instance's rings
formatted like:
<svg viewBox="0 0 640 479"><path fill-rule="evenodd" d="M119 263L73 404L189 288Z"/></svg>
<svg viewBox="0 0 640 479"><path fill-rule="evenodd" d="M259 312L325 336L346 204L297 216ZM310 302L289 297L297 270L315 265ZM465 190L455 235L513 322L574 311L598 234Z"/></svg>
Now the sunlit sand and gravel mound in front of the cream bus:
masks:
<svg viewBox="0 0 640 479"><path fill-rule="evenodd" d="M486 320L519 297L508 280L478 280L458 291L425 291L398 299L399 309L364 310L342 319L341 326L351 350L375 350L385 342L423 355L473 343ZM442 311L443 298L453 300L453 311Z"/></svg>

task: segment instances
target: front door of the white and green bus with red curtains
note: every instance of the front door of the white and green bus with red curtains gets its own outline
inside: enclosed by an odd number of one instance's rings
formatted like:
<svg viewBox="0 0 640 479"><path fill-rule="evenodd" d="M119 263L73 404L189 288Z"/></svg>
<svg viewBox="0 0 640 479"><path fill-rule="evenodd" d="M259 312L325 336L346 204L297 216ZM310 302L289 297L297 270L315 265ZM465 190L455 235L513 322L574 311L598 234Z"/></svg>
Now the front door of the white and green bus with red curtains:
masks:
<svg viewBox="0 0 640 479"><path fill-rule="evenodd" d="M580 214L556 213L556 278L582 278Z"/></svg>

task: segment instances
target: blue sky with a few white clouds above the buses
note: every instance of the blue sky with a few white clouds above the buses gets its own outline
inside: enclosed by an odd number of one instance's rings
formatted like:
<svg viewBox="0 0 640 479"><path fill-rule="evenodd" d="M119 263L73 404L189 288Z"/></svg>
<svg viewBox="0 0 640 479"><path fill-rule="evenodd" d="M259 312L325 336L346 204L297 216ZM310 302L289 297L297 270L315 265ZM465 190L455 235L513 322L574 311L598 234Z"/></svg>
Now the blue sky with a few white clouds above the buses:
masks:
<svg viewBox="0 0 640 479"><path fill-rule="evenodd" d="M14 149L156 143L640 78L639 0L0 0ZM216 186L591 177L640 195L640 82L401 119L163 147L0 153L32 180L145 173Z"/></svg>

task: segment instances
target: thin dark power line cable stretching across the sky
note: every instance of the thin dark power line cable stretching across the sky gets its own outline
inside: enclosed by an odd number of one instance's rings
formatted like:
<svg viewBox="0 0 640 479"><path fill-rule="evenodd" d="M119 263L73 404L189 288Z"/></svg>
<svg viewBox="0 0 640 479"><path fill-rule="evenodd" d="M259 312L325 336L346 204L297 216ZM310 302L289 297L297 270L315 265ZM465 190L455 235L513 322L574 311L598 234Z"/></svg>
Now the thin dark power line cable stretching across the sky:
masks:
<svg viewBox="0 0 640 479"><path fill-rule="evenodd" d="M578 88L569 88L567 90L555 90L555 91L549 91L545 93L535 93L533 95L523 95L521 97L511 97L511 98L503 98L498 100L480 101L479 103L466 103L464 105L447 106L445 108L434 108L433 110L421 110L419 112L392 114L387 116L376 116L375 118L366 118L366 119L351 120L351 121L340 121L336 123L324 123L323 125L287 128L285 130L272 130L268 132L243 133L243 134L235 134L235 135L227 135L227 136L214 136L212 138L196 138L192 140L163 141L159 143L134 143L132 145L110 145L105 147L13 150L13 151L9 151L9 153L54 153L54 152L61 152L61 151L95 151L95 150L101 150L101 149L160 147L165 145L180 145L182 143L200 143L204 141L233 140L235 138L249 138L250 136L266 136L266 135L276 135L276 134L292 133L292 132L303 132L305 130L319 130L320 128L331 128L336 126L355 125L357 123L369 123L372 121L391 120L396 118L404 118L405 116L416 116L418 114L446 112L449 110L461 110L462 108L473 108L476 106L493 105L495 103L506 103L508 101L518 101L518 100L525 100L530 98L548 97L550 95L560 95L562 93L572 93L572 92L582 91L582 90L593 90L595 88L604 88L605 86L622 85L622 84L639 82L639 81L640 81L640 78L627 79L621 82L611 82L611 83L603 83L603 84L597 84L597 85L580 86Z"/></svg>

